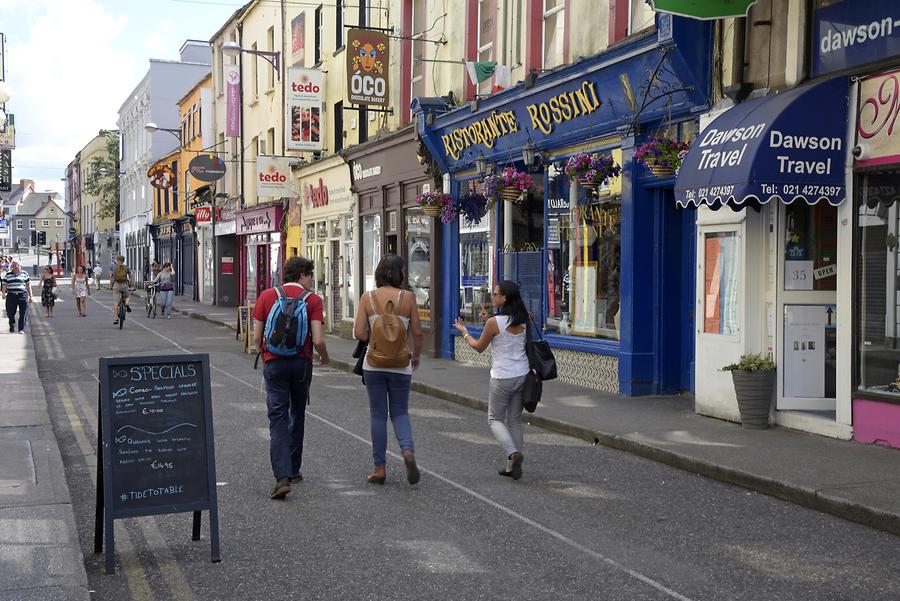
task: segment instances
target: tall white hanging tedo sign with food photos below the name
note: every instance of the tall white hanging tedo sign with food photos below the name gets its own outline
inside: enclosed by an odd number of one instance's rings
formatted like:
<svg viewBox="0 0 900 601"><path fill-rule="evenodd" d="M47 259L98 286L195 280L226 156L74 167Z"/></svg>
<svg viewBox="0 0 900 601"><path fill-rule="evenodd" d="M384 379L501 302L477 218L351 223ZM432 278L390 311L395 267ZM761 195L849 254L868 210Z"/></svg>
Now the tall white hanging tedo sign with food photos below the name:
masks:
<svg viewBox="0 0 900 601"><path fill-rule="evenodd" d="M322 150L325 76L317 69L288 69L285 148Z"/></svg>

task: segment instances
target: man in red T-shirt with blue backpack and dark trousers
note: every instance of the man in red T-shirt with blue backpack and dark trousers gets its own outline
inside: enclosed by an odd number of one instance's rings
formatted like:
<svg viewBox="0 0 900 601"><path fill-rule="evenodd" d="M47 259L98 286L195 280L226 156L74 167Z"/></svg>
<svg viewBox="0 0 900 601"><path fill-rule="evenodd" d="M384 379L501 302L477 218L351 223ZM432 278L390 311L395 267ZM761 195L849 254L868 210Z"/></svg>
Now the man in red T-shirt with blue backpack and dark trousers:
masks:
<svg viewBox="0 0 900 601"><path fill-rule="evenodd" d="M265 364L273 499L283 499L291 492L291 484L303 480L300 468L313 347L321 364L328 363L322 299L311 291L313 262L291 257L284 264L282 280L284 285L263 291L253 309L253 340Z"/></svg>

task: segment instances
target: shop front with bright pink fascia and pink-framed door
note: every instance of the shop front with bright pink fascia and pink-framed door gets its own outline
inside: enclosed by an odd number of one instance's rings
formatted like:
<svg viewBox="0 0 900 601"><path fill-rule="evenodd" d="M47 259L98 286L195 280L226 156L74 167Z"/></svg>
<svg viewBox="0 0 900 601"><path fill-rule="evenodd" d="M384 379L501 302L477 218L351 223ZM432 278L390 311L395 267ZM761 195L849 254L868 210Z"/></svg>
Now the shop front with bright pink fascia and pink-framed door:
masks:
<svg viewBox="0 0 900 601"><path fill-rule="evenodd" d="M241 304L253 304L266 288L281 284L284 244L281 204L241 211L235 219L240 246Z"/></svg>

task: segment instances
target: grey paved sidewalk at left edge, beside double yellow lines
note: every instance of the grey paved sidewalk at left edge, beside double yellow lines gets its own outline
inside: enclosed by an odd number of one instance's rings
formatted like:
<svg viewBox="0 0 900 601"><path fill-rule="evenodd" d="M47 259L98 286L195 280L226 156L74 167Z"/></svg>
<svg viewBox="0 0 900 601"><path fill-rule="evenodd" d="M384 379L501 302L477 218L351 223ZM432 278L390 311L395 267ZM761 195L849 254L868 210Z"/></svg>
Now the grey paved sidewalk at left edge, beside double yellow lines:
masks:
<svg viewBox="0 0 900 601"><path fill-rule="evenodd" d="M0 333L0 599L88 601L87 574L31 332Z"/></svg>

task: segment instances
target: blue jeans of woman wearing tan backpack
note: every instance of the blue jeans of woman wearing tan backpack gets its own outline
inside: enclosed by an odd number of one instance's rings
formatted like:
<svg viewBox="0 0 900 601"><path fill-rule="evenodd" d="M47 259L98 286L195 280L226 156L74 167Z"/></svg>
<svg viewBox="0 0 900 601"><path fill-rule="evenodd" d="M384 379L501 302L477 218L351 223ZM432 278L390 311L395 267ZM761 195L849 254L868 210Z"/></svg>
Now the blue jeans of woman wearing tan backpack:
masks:
<svg viewBox="0 0 900 601"><path fill-rule="evenodd" d="M369 411L372 414L372 460L375 465L387 461L387 417L390 410L394 436L400 449L413 451L412 425L409 423L409 384L412 376L388 371L365 370Z"/></svg>

